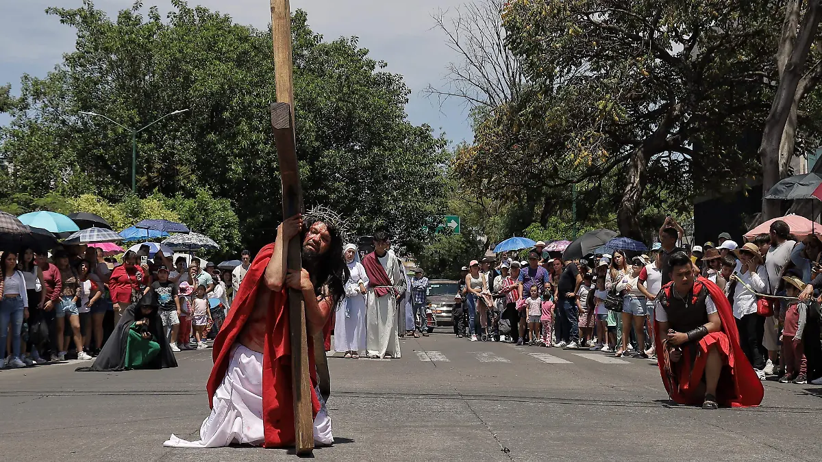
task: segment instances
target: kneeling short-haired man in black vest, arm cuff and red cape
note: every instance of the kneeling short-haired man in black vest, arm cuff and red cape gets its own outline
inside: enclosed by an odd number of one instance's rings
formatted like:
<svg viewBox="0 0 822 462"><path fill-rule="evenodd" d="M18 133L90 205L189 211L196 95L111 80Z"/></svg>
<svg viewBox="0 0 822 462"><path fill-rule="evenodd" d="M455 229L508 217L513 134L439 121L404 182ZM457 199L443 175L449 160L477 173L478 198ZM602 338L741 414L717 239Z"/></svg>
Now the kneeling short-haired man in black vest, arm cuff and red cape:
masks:
<svg viewBox="0 0 822 462"><path fill-rule="evenodd" d="M663 384L677 404L758 406L764 390L739 344L731 304L717 284L694 276L685 252L668 261L657 298L656 346Z"/></svg>

